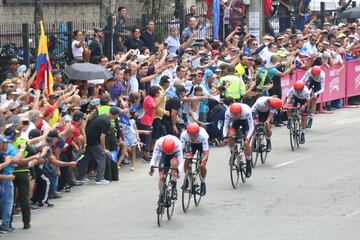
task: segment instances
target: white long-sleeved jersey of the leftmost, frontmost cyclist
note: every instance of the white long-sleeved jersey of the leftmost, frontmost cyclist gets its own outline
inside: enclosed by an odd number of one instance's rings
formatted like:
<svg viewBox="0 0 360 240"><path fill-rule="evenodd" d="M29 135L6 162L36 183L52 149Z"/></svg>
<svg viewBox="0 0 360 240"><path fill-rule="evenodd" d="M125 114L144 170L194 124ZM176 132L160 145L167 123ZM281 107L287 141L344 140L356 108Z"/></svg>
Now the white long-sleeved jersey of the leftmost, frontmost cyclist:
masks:
<svg viewBox="0 0 360 240"><path fill-rule="evenodd" d="M184 167L184 157L183 157L183 152L182 152L182 145L181 145L180 139L178 139L177 137L175 137L173 135L166 135L166 136L163 136L163 137L159 138L158 140L156 140L153 155L152 155L151 161L150 161L150 167L155 166L156 160L161 156L161 154L163 154L162 144L164 142L164 139L167 137L171 137L174 139L175 149L174 149L173 154L177 157L177 159L179 161L178 170L179 170L179 172L182 172L183 167Z"/></svg>

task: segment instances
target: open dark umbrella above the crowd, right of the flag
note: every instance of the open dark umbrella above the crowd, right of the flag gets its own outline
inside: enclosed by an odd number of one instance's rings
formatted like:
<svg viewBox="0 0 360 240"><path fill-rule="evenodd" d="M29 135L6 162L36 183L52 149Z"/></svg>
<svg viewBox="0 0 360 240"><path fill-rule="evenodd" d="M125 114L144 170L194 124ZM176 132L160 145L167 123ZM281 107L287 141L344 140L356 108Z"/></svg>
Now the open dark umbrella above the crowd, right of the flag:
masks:
<svg viewBox="0 0 360 240"><path fill-rule="evenodd" d="M104 67L92 63L74 63L64 70L71 80L110 79L112 74Z"/></svg>

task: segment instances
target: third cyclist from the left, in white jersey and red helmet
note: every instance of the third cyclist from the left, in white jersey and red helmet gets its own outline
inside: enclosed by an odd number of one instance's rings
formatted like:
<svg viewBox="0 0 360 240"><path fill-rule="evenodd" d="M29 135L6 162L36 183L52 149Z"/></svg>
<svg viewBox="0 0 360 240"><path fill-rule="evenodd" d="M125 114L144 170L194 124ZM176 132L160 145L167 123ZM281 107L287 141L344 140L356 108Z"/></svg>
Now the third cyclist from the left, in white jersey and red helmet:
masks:
<svg viewBox="0 0 360 240"><path fill-rule="evenodd" d="M251 136L254 132L254 120L251 114L251 108L243 103L233 103L225 112L225 121L223 136L228 138L230 152L234 150L234 137L236 130L242 126L246 134L245 139L245 157L246 157L246 177L251 177Z"/></svg>

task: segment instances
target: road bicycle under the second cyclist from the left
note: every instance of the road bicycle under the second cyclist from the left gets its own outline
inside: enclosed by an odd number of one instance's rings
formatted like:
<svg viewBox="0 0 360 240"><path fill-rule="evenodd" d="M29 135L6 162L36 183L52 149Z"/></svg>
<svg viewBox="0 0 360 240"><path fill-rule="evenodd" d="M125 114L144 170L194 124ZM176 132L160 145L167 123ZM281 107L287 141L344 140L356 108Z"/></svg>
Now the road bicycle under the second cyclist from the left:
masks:
<svg viewBox="0 0 360 240"><path fill-rule="evenodd" d="M196 157L188 158L189 168L185 173L183 185L181 187L182 194L182 208L184 213L186 213L189 209L191 197L194 197L195 206L199 206L201 201L200 195L200 163L201 163L201 155L200 152L197 151Z"/></svg>

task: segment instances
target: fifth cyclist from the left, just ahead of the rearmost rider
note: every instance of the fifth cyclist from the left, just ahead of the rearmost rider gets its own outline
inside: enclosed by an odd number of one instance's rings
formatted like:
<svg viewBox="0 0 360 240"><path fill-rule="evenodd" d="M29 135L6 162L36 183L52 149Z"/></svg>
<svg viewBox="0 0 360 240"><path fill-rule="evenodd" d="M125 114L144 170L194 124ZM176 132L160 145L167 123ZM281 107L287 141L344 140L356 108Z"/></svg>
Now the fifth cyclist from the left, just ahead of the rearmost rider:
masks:
<svg viewBox="0 0 360 240"><path fill-rule="evenodd" d="M306 116L307 107L310 105L310 90L305 86L303 81L296 81L294 86L289 89L286 97L284 98L283 104L286 100L290 99L289 106L297 107L300 105L301 114L301 135L300 143L305 143L305 129L306 129ZM292 112L288 111L288 117L292 116ZM290 129L290 121L287 123L287 128Z"/></svg>

